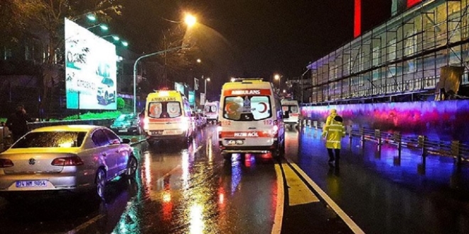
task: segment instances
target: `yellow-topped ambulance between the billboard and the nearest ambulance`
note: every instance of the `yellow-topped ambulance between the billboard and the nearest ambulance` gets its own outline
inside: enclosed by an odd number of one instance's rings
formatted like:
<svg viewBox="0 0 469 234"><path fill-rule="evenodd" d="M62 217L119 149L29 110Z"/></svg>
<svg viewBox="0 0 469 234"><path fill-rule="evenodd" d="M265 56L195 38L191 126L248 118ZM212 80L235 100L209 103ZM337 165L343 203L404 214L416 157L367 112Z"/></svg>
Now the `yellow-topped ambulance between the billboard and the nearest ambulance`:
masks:
<svg viewBox="0 0 469 234"><path fill-rule="evenodd" d="M146 140L183 140L195 129L188 99L176 90L158 90L146 97L144 131Z"/></svg>

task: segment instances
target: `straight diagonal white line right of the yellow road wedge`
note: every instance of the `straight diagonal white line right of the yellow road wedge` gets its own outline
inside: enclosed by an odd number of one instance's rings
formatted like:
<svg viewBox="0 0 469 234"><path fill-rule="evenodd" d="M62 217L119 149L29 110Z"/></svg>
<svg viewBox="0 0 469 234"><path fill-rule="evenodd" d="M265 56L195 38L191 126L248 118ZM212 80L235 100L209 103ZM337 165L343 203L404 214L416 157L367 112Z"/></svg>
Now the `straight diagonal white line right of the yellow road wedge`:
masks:
<svg viewBox="0 0 469 234"><path fill-rule="evenodd" d="M290 160L288 160L290 162ZM350 229L352 229L353 233L365 233L358 225L357 223L355 223L354 221L352 221L352 218L350 218L350 216L347 216L347 214L337 205L335 204L335 202L333 201L333 199L330 199L330 197L328 196L328 194L325 194L325 192L323 191L323 189L320 189L320 187L318 186L318 184L316 184L315 182L313 182L313 180L308 177L308 175L303 172L303 170L298 167L298 165L290 162L290 164L298 171L298 173L301 174L301 176L303 178L306 179L306 182L308 182L308 184L310 184L314 190L316 190L319 194L319 196L321 196L324 201L330 206L330 208L333 208L333 210L335 211L335 213L338 214L338 216L340 218L342 218L342 220L348 225L348 227Z"/></svg>

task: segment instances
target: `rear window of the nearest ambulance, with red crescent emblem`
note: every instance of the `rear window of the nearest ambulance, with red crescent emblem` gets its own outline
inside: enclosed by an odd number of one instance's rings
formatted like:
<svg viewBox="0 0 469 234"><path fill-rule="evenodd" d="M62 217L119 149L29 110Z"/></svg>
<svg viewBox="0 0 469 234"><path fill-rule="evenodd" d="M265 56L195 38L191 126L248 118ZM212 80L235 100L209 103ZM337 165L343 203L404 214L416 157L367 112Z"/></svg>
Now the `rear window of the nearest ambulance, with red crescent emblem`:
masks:
<svg viewBox="0 0 469 234"><path fill-rule="evenodd" d="M272 116L269 96L227 96L223 117L232 121L259 121Z"/></svg>

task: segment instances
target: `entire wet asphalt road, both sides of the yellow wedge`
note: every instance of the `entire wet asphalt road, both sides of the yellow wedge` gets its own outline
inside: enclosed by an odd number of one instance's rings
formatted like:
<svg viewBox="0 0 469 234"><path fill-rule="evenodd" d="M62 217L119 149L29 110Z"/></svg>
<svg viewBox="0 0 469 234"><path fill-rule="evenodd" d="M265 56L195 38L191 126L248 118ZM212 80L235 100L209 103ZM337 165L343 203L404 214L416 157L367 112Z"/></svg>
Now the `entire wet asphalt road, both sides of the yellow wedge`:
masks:
<svg viewBox="0 0 469 234"><path fill-rule="evenodd" d="M286 160L233 155L225 162L214 126L188 145L134 146L135 179L85 196L0 205L0 233L469 233L469 171L418 150L381 153L343 140L329 167L315 129L289 130ZM277 179L280 178L280 179Z"/></svg>

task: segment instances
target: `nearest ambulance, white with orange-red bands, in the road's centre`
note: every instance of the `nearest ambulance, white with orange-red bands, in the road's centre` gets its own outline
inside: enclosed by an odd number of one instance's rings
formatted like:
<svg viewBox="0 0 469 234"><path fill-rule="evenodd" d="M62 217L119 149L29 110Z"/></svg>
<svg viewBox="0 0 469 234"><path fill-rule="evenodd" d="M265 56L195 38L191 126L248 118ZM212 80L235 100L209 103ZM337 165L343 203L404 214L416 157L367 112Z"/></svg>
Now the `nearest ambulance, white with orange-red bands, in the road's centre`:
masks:
<svg viewBox="0 0 469 234"><path fill-rule="evenodd" d="M272 152L274 157L283 157L284 116L271 82L244 78L225 83L220 106L217 131L225 159L233 152Z"/></svg>

